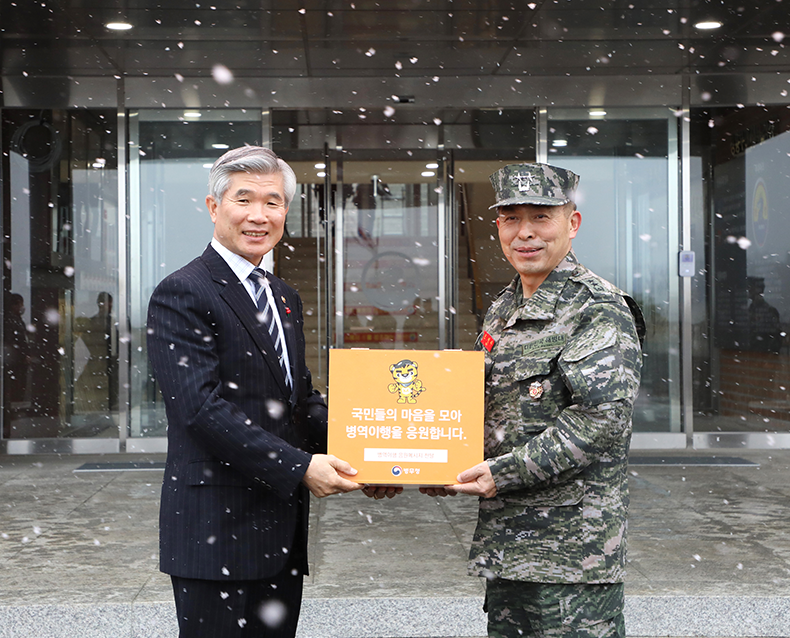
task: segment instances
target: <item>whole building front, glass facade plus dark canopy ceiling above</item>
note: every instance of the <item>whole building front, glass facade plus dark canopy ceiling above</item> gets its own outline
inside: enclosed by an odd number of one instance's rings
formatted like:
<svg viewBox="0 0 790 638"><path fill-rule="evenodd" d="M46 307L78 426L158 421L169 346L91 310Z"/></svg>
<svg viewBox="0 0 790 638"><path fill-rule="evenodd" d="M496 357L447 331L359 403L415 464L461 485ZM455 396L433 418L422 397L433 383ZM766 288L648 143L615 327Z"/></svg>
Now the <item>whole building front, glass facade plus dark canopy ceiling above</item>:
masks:
<svg viewBox="0 0 790 638"><path fill-rule="evenodd" d="M542 161L581 175L576 253L645 313L637 445L790 446L781 3L715 42L694 3L141 0L124 33L93 4L0 0L0 452L164 449L148 300L243 144L297 173L267 264L321 390L330 348L472 347L512 277L488 176Z"/></svg>

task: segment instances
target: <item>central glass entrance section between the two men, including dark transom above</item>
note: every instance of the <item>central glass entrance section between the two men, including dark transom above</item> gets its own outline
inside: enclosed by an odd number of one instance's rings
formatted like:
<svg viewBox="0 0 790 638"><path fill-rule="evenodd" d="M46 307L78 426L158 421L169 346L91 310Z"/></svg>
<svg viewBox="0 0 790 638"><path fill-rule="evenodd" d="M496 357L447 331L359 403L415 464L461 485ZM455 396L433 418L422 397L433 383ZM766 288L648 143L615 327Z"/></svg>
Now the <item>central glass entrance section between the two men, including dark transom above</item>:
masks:
<svg viewBox="0 0 790 638"><path fill-rule="evenodd" d="M277 265L304 302L314 384L325 387L327 346L341 336L346 347L471 349L512 277L492 235L488 176L534 161L534 111L274 110L272 140L301 189ZM342 243L342 328L332 242Z"/></svg>

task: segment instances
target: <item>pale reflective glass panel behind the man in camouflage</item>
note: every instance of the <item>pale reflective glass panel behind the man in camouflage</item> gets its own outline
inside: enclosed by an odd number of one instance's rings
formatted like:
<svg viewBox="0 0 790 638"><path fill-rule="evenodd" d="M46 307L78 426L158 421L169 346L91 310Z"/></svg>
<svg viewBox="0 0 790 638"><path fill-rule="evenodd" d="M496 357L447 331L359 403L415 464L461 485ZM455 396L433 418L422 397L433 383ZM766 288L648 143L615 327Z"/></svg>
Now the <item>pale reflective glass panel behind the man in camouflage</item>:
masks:
<svg viewBox="0 0 790 638"><path fill-rule="evenodd" d="M581 176L576 255L645 315L643 432L680 431L676 131L669 111L549 112L548 160Z"/></svg>

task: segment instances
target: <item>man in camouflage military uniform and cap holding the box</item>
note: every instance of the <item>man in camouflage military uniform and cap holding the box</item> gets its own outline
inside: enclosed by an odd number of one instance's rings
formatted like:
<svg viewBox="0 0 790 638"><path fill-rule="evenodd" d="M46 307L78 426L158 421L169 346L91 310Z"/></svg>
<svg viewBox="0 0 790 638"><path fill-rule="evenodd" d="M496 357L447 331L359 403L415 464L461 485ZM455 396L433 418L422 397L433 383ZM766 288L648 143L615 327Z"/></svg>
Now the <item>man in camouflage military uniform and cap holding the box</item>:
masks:
<svg viewBox="0 0 790 638"><path fill-rule="evenodd" d="M470 573L489 636L625 636L631 415L644 322L571 242L579 177L545 164L491 176L516 270L476 348L486 361L486 460L431 495L480 498Z"/></svg>

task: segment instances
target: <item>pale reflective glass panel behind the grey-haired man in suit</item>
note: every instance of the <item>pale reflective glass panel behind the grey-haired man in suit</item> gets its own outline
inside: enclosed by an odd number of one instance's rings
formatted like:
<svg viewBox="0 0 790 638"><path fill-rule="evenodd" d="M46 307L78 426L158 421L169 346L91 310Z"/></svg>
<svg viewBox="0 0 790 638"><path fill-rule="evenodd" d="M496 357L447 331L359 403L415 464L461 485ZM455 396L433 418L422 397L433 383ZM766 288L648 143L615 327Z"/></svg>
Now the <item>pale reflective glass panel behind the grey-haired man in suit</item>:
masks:
<svg viewBox="0 0 790 638"><path fill-rule="evenodd" d="M146 313L156 285L211 241L208 173L229 148L261 143L258 111L147 110L130 117L131 436L164 436L164 404L151 377Z"/></svg>

